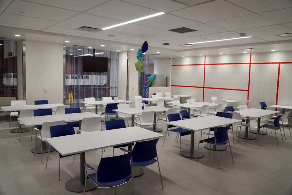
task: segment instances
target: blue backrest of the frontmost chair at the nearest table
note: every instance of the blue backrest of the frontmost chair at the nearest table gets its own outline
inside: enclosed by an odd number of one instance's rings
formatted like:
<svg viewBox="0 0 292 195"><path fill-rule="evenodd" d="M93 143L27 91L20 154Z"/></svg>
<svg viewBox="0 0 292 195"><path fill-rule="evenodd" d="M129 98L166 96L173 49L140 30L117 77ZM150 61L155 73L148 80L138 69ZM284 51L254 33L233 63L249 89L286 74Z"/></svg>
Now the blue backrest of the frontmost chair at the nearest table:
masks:
<svg viewBox="0 0 292 195"><path fill-rule="evenodd" d="M131 175L132 154L101 158L97 168L97 182L111 183Z"/></svg>

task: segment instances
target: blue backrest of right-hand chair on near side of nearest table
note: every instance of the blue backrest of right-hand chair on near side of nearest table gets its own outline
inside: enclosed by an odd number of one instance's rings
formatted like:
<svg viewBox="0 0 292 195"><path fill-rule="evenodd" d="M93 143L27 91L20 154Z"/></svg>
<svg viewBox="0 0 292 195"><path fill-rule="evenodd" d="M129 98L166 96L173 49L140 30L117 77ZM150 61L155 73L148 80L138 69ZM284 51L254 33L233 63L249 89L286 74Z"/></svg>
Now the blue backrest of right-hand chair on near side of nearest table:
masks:
<svg viewBox="0 0 292 195"><path fill-rule="evenodd" d="M157 157L156 144L158 139L136 142L133 148L133 162L146 162Z"/></svg>

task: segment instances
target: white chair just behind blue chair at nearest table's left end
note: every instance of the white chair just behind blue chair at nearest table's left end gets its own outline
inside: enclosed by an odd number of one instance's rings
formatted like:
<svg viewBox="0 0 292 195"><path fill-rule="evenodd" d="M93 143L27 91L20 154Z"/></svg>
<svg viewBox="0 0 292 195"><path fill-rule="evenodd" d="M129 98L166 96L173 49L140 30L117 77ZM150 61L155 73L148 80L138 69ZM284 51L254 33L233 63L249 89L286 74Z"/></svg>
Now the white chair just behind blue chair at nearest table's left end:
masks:
<svg viewBox="0 0 292 195"><path fill-rule="evenodd" d="M50 133L50 127L51 126L61 125L61 124L64 124L64 123L65 123L64 120L54 121L54 122L45 122L42 125L42 130L34 128L35 132L36 132L35 148L36 148L36 144L37 144L37 139L40 139L41 140L41 144L42 144L42 142L46 141L46 138L50 138L51 137L51 133ZM39 135L37 134L38 131L40 132ZM43 150L42 150L42 147L40 147L40 154L41 154L41 163L43 164ZM33 155L35 156L35 149L34 149Z"/></svg>

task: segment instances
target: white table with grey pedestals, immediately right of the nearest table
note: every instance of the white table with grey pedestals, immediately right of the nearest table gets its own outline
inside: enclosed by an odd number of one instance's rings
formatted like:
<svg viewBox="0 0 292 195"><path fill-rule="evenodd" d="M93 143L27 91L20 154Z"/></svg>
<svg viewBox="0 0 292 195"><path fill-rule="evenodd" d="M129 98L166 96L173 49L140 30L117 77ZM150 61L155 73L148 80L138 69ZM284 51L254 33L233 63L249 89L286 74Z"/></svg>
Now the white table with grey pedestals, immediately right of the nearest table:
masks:
<svg viewBox="0 0 292 195"><path fill-rule="evenodd" d="M173 126L191 130L191 147L190 150L181 150L180 154L187 158L196 158L198 151L194 150L195 131L214 128L214 134L217 132L217 127L240 122L240 120L229 119L219 116L204 116L192 119L177 120L166 122ZM204 153L199 152L198 158L204 157Z"/></svg>

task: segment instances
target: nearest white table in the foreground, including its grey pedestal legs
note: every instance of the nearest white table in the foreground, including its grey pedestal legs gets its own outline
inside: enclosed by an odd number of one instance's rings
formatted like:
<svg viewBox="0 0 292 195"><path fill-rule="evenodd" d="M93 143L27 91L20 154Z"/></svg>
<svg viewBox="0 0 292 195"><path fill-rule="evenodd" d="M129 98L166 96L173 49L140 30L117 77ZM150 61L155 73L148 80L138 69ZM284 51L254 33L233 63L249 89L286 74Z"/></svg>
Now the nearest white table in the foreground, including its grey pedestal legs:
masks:
<svg viewBox="0 0 292 195"><path fill-rule="evenodd" d="M80 176L69 179L65 183L65 188L71 192L83 192L85 183L85 152L121 144L128 144L128 149L132 151L132 143L134 142L156 139L163 136L162 134L135 126L47 138L46 141L63 156L80 153ZM86 191L96 188L92 182L88 182L86 187Z"/></svg>

